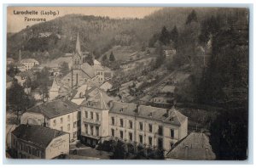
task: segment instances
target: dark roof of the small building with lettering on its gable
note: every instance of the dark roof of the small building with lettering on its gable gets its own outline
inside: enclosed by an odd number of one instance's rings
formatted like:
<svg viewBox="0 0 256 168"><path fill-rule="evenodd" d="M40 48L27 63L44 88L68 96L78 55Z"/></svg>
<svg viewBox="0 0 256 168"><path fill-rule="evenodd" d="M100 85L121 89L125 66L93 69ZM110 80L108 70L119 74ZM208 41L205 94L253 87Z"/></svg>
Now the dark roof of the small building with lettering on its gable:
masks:
<svg viewBox="0 0 256 168"><path fill-rule="evenodd" d="M61 132L44 126L22 124L16 127L12 134L28 143L46 148L55 137L60 137L67 134L67 132Z"/></svg>

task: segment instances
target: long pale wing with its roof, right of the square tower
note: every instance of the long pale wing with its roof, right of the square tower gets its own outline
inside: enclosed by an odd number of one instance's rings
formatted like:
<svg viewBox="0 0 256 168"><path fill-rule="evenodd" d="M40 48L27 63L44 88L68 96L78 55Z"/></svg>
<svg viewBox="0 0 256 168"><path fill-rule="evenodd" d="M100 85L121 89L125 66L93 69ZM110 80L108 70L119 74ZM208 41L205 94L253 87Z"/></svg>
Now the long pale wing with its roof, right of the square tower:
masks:
<svg viewBox="0 0 256 168"><path fill-rule="evenodd" d="M113 102L109 137L145 148L168 151L188 134L188 118L177 109Z"/></svg>

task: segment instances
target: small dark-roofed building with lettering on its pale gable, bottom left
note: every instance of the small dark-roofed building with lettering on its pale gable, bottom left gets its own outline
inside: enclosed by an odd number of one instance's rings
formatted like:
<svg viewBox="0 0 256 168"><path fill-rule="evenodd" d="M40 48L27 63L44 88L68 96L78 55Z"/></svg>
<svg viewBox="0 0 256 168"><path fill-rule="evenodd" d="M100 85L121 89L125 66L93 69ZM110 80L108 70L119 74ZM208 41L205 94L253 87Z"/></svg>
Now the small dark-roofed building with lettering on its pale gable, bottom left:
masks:
<svg viewBox="0 0 256 168"><path fill-rule="evenodd" d="M11 134L16 159L54 159L69 154L69 134L44 126L20 125Z"/></svg>

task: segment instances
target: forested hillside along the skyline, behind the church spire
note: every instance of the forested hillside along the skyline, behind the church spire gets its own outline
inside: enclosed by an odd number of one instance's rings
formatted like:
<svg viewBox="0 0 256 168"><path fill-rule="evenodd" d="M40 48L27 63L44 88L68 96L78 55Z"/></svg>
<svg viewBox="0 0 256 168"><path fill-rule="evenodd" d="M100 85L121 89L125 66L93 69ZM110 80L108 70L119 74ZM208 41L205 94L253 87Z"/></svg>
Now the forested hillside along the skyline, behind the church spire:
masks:
<svg viewBox="0 0 256 168"><path fill-rule="evenodd" d="M172 29L183 30L184 21L193 8L163 8L143 19L110 19L90 15L69 14L55 20L32 25L8 36L7 56L17 59L18 50L24 57L42 59L44 52L49 52L55 59L63 53L72 53L79 27L81 48L95 53L96 58L107 52L114 45L148 46L148 40L164 25ZM195 8L198 20L207 15L229 14L232 9ZM49 33L48 36L40 34ZM45 58L44 58L45 59Z"/></svg>

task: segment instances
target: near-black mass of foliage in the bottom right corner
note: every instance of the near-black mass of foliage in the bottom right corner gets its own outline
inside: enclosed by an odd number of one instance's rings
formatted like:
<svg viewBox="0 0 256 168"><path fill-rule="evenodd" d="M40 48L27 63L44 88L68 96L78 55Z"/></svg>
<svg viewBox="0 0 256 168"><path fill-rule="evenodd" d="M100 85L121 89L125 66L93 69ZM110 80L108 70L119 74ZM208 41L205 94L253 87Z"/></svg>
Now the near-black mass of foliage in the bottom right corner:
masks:
<svg viewBox="0 0 256 168"><path fill-rule="evenodd" d="M222 111L210 127L210 143L217 160L247 160L247 108Z"/></svg>

